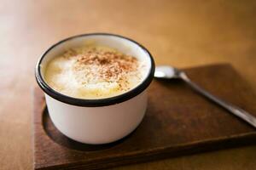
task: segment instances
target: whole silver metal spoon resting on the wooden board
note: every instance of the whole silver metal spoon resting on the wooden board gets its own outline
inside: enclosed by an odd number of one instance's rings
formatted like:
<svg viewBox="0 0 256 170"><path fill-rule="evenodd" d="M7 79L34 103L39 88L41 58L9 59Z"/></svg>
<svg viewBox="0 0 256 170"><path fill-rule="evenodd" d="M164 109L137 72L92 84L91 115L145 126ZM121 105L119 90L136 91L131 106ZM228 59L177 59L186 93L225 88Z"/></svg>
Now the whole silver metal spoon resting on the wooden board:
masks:
<svg viewBox="0 0 256 170"><path fill-rule="evenodd" d="M222 106L225 110L230 111L230 113L233 113L234 115L240 117L243 121L249 123L253 127L256 127L255 116L249 114L247 111L242 110L236 105L232 105L228 102L225 102L222 99L218 99L216 96L213 96L212 94L209 94L205 89L196 85L195 82L192 82L189 79L189 77L187 77L184 71L177 70L177 68L174 68L172 66L160 65L155 68L154 77L161 78L161 79L172 79L172 78L182 79L184 82L187 82L187 84L191 88L193 88L196 92L202 94L207 99L212 100L214 103Z"/></svg>

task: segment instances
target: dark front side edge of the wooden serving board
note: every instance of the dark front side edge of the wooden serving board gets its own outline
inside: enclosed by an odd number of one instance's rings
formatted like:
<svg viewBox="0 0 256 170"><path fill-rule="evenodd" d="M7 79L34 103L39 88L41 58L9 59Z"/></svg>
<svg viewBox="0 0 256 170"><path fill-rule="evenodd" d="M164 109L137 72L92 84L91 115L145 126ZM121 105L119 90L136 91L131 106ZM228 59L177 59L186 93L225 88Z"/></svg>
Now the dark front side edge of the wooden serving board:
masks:
<svg viewBox="0 0 256 170"><path fill-rule="evenodd" d="M199 143L194 143L193 147L191 144L189 145L180 145L166 148L160 148L156 150L148 150L148 153L140 153L140 154L132 154L130 156L122 156L121 158L113 157L109 158L108 161L105 159L96 160L93 163L88 161L80 161L75 163L62 164L58 166L52 167L36 167L38 170L46 170L46 169L102 169L102 168L110 168L110 167L118 167L121 165L129 165L132 163L142 163L146 161L157 161L160 159L166 159L177 156L188 156L196 153L203 153L206 151L212 150L224 150L230 149L237 146L242 145L251 145L255 144L256 133L247 133L240 136L235 136L227 139L216 139L214 141L203 141ZM251 141L251 142L248 142Z"/></svg>

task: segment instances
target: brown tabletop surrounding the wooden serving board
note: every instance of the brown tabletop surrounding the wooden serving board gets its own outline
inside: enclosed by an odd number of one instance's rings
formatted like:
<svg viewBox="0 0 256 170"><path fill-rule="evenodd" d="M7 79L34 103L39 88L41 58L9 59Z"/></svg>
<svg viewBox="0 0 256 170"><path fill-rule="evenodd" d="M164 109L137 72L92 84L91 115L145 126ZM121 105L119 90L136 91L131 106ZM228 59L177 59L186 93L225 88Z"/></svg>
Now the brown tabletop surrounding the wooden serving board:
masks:
<svg viewBox="0 0 256 170"><path fill-rule="evenodd" d="M256 92L256 2L0 1L0 169L32 169L34 65L46 48L86 32L131 37L156 64L233 65ZM256 146L114 169L256 169Z"/></svg>

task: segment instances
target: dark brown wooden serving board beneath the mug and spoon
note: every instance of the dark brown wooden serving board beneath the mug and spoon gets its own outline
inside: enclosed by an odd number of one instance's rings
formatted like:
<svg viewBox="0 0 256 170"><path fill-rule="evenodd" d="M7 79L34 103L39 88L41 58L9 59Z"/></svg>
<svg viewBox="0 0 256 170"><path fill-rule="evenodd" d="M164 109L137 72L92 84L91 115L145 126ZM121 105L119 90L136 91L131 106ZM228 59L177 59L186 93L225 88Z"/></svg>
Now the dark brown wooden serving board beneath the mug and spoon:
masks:
<svg viewBox="0 0 256 170"><path fill-rule="evenodd" d="M256 96L230 65L185 70L221 99L256 116ZM256 144L256 129L209 102L181 81L154 81L142 124L113 144L80 144L52 124L44 94L34 90L34 168L99 169L129 163Z"/></svg>

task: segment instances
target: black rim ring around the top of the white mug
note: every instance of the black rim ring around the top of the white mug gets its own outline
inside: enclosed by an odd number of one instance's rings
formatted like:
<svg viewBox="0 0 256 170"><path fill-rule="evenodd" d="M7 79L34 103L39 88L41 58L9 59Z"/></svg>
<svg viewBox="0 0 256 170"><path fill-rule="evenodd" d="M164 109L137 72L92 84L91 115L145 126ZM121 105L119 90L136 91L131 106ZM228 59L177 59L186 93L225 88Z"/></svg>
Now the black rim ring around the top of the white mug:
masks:
<svg viewBox="0 0 256 170"><path fill-rule="evenodd" d="M125 92L124 94L119 94L110 98L103 98L103 99L78 99L78 98L73 98L70 96L67 96L65 94L61 94L57 91L55 91L53 88L50 88L49 85L44 82L44 78L42 77L42 72L41 72L41 63L44 60L44 57L49 53L49 51L56 46L60 45L63 42L67 42L69 40L72 40L74 38L79 38L79 37L88 37L88 36L112 36L112 37L119 37L126 39L130 42L133 42L137 44L140 48L143 49L143 51L148 54L148 57L151 62L151 67L150 71L148 71L147 77L141 82L140 84L137 85L137 87L132 88L130 91ZM52 45L44 54L41 56L41 58L38 60L38 63L36 65L36 71L35 71L35 76L36 80L38 82L38 85L40 88L44 90L45 94L48 94L50 97L57 99L63 103L69 104L69 105L77 105L77 106L87 106L87 107L96 107L96 106L107 106L107 105L115 105L119 104L121 102L124 102L128 99L131 99L138 94L141 94L146 88L148 88L149 84L152 82L153 77L154 77L154 59L152 55L148 52L148 49L144 48L143 45L140 43L128 38L128 37L123 37L119 36L116 34L111 34L111 33L89 33L89 34L81 34L78 36L73 36L73 37L67 37L66 39L61 40L60 42L56 42L54 45Z"/></svg>

